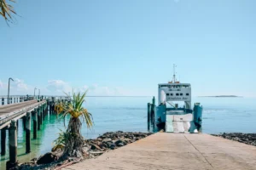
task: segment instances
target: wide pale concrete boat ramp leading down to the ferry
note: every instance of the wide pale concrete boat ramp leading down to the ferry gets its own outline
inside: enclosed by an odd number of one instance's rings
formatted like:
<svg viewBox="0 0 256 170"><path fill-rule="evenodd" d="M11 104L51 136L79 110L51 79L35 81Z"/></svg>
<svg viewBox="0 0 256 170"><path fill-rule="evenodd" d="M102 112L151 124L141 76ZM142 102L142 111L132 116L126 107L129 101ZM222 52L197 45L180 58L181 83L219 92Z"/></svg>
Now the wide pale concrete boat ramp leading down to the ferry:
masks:
<svg viewBox="0 0 256 170"><path fill-rule="evenodd" d="M155 133L63 170L256 170L256 147L208 134Z"/></svg>

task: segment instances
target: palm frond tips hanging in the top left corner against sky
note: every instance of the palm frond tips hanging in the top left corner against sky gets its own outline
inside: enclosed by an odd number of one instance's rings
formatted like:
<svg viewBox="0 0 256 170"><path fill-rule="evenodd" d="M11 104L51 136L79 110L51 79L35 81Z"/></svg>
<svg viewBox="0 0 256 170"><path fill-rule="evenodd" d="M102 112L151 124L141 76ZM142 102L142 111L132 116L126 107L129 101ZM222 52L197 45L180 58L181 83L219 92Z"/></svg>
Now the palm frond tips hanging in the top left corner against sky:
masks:
<svg viewBox="0 0 256 170"><path fill-rule="evenodd" d="M16 14L13 6L6 3L7 0L0 0L0 15L7 21L12 20L12 14ZM15 3L15 0L9 0L9 2Z"/></svg>

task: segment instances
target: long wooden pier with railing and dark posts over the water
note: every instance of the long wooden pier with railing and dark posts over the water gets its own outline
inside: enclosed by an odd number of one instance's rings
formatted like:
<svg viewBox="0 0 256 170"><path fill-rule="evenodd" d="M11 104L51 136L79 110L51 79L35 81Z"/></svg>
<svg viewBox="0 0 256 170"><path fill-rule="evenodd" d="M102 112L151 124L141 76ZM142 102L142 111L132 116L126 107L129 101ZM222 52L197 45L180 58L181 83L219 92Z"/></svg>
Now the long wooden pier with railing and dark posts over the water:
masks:
<svg viewBox="0 0 256 170"><path fill-rule="evenodd" d="M32 100L18 100L28 99L26 97L13 98L10 101L17 101L20 103L10 105L0 105L0 130L1 130L1 155L6 154L6 131L9 131L9 161L7 161L6 169L15 167L18 163L17 160L17 127L18 120L23 120L24 131L26 132L26 153L31 152L31 139L37 139L37 133L41 130L44 123L44 117L54 113L55 97L48 97L43 99ZM67 98L61 98L62 101ZM4 98L2 98L4 104ZM33 123L31 123L33 122ZM31 138L31 124L33 124L33 136Z"/></svg>

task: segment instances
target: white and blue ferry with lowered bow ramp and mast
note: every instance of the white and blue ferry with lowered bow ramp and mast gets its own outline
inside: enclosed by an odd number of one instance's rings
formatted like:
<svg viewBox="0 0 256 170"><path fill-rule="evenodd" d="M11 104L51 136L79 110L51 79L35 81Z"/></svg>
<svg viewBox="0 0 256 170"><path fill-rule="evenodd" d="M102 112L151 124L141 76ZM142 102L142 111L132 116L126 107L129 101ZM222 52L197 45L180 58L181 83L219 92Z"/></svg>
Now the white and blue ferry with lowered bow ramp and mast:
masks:
<svg viewBox="0 0 256 170"><path fill-rule="evenodd" d="M201 133L200 103L191 105L191 85L177 82L173 65L172 82L158 85L158 106L154 108L154 126L167 133ZM180 105L182 103L183 105Z"/></svg>

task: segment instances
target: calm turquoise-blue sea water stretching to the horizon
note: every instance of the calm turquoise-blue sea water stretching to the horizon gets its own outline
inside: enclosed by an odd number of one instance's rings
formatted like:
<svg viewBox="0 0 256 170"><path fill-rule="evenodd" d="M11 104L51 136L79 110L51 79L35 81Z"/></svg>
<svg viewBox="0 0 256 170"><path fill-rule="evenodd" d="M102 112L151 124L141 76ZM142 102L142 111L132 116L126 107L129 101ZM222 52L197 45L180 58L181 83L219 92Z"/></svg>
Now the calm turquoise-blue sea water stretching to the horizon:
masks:
<svg viewBox="0 0 256 170"><path fill-rule="evenodd" d="M86 98L84 106L93 115L95 125L91 130L84 125L82 129L84 137L96 138L99 134L118 130L147 132L147 103L151 102L151 99L151 97ZM256 133L256 99L193 98L192 102L200 102L203 105L204 133ZM30 161L50 151L60 129L65 128L63 122L54 115L47 116L42 130L38 131L38 139L32 139L32 153L25 154L25 132L22 120L20 120L18 160L20 162ZM7 144L9 144L8 141ZM5 169L8 160L9 152L6 156L0 156L0 169Z"/></svg>

